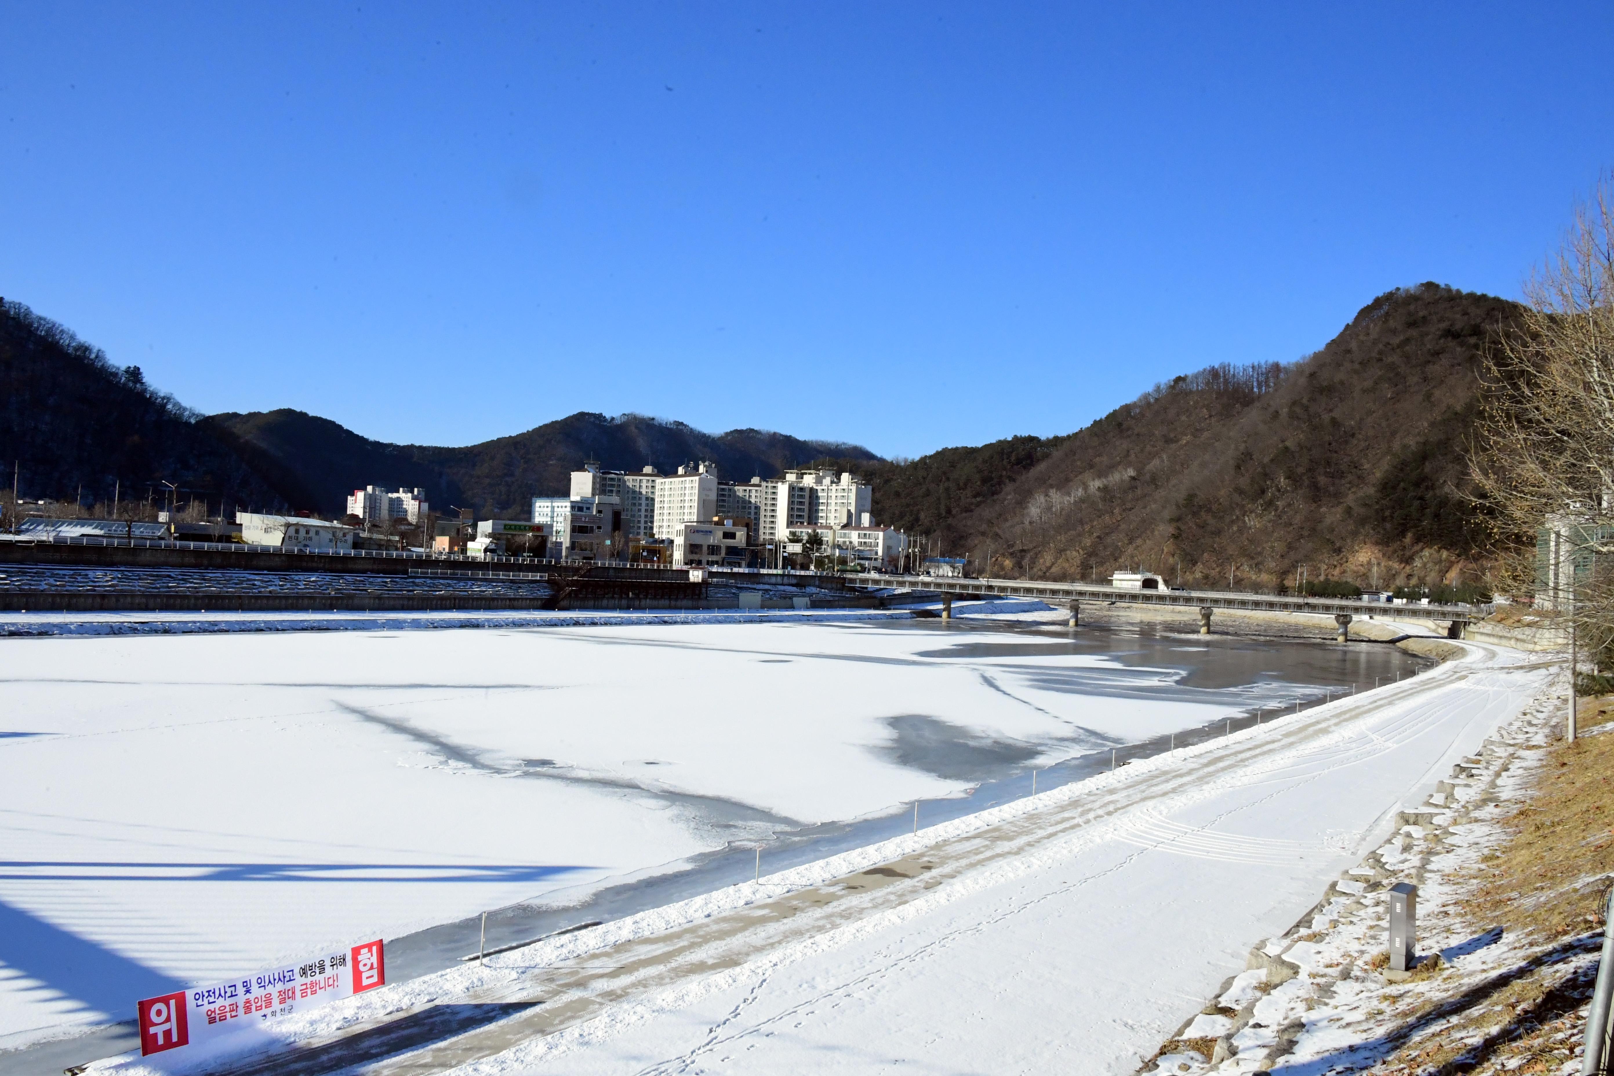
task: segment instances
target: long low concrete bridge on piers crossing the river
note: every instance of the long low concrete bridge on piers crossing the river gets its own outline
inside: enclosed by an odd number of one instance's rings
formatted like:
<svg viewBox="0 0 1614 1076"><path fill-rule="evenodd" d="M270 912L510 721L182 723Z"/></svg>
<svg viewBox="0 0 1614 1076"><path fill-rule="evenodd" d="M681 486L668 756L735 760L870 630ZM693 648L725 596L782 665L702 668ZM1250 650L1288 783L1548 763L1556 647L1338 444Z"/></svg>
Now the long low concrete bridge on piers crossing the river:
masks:
<svg viewBox="0 0 1614 1076"><path fill-rule="evenodd" d="M1196 608L1206 631L1209 631L1212 610L1261 610L1269 613L1332 615L1340 624L1341 636L1346 624L1357 616L1440 619L1451 623L1451 634L1456 637L1462 634L1464 624L1485 619L1495 608L1491 605L1388 605L1385 602L1362 602L1359 598L1290 597L1283 594L1244 594L1238 590L1133 590L1130 587L1107 587L1093 582L1043 582L1036 579L854 574L846 576L846 582L851 587L860 589L935 590L943 595L944 615L951 611L954 597L1041 598L1044 602L1068 603L1072 623L1078 619L1081 602Z"/></svg>

